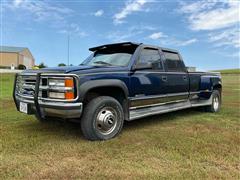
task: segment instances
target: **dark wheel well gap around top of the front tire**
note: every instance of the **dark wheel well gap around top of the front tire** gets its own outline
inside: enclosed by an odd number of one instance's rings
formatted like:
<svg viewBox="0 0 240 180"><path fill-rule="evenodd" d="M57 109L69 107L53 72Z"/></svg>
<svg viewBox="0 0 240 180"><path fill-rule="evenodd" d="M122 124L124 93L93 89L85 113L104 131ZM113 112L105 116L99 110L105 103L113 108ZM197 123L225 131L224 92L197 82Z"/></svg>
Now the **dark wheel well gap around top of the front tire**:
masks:
<svg viewBox="0 0 240 180"><path fill-rule="evenodd" d="M121 88L107 86L90 89L84 97L83 104L88 104L92 99L98 96L110 96L115 98L123 107L125 119L129 118L128 98Z"/></svg>

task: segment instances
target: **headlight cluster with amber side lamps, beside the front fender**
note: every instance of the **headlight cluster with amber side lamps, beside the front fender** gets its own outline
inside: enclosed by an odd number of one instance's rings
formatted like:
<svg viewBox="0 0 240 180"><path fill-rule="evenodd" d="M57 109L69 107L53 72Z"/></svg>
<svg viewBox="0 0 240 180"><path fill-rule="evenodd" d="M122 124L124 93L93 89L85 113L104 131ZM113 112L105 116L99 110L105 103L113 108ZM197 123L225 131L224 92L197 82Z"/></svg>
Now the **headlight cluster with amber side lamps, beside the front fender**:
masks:
<svg viewBox="0 0 240 180"><path fill-rule="evenodd" d="M64 79L49 78L48 97L53 99L74 99L74 79L70 77Z"/></svg>

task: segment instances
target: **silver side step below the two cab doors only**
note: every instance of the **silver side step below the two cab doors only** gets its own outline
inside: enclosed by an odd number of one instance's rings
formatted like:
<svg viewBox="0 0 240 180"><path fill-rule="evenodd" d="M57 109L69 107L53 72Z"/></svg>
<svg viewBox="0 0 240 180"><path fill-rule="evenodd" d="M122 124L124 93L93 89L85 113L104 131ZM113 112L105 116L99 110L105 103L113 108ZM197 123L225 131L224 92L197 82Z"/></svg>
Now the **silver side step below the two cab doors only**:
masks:
<svg viewBox="0 0 240 180"><path fill-rule="evenodd" d="M143 118L146 116L177 111L177 110L186 109L186 108L190 108L190 107L192 107L192 104L188 100L188 101L184 101L184 102L165 104L165 105L161 105L161 106L134 109L134 110L130 110L129 120L132 121L132 120Z"/></svg>

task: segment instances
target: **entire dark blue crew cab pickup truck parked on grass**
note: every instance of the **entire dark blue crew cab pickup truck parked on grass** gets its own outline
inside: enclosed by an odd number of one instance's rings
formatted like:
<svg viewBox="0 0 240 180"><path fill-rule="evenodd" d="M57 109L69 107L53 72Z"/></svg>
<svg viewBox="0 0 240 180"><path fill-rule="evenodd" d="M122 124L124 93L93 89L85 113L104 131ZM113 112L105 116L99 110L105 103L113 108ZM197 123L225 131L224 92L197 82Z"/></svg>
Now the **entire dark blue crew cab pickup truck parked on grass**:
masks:
<svg viewBox="0 0 240 180"><path fill-rule="evenodd" d="M176 50L133 42L89 50L80 66L17 74L18 111L40 122L75 120L87 139L107 140L120 133L124 121L198 106L220 109L220 74L188 72Z"/></svg>

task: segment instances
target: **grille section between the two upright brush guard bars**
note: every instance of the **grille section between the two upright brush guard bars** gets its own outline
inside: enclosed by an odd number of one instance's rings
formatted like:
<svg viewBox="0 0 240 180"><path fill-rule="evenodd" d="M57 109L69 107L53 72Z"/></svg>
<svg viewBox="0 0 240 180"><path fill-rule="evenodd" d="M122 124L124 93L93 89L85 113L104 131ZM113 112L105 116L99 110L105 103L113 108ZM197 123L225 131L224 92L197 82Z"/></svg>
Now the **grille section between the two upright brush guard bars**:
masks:
<svg viewBox="0 0 240 180"><path fill-rule="evenodd" d="M33 98L35 94L36 76L19 75L16 82L16 93L20 96Z"/></svg>

